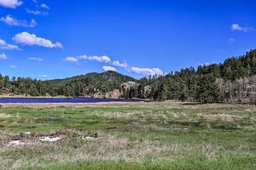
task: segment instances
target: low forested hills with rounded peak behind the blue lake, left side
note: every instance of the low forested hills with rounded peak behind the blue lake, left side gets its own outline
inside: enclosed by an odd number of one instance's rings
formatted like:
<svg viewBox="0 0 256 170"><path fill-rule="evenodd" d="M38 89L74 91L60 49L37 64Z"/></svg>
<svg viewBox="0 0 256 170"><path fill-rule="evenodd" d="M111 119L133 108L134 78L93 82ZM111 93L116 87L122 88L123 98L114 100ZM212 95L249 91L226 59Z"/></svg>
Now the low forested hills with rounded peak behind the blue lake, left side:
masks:
<svg viewBox="0 0 256 170"><path fill-rule="evenodd" d="M26 96L86 96L96 93L107 93L120 89L121 84L137 81L129 76L107 71L88 73L66 79L41 81L29 77L2 76L0 74L0 93L13 93Z"/></svg>

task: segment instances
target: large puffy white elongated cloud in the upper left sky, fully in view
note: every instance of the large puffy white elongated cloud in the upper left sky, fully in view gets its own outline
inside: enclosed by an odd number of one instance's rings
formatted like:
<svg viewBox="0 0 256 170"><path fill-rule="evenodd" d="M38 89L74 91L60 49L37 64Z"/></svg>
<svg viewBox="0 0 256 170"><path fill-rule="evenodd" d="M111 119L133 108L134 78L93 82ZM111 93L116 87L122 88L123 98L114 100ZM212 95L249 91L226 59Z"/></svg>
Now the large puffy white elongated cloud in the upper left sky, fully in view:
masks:
<svg viewBox="0 0 256 170"><path fill-rule="evenodd" d="M15 37L12 38L15 43L28 45L28 46L44 46L46 48L63 48L62 44L59 42L52 43L52 41L47 40L45 38L37 37L35 34L29 34L28 32L22 32L16 34Z"/></svg>

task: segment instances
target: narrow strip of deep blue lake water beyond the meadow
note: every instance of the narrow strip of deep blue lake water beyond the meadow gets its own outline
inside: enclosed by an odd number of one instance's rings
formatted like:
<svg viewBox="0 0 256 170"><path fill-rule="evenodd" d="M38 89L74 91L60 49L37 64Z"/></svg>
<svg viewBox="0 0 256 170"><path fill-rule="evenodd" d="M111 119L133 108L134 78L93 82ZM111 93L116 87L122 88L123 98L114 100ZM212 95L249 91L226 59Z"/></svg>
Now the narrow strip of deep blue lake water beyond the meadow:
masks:
<svg viewBox="0 0 256 170"><path fill-rule="evenodd" d="M29 97L3 97L0 103L97 103L97 102L138 102L129 99L96 99L87 97L74 98L29 98Z"/></svg>

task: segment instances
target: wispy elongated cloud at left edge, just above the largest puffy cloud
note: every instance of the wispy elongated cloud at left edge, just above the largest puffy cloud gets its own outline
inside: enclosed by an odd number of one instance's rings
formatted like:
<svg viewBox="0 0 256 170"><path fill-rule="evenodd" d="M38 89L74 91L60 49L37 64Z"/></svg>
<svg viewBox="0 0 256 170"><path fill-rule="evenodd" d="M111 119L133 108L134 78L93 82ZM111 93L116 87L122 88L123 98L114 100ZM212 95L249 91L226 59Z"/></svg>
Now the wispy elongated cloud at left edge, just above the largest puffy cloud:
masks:
<svg viewBox="0 0 256 170"><path fill-rule="evenodd" d="M37 22L35 22L34 19L31 19L30 23L28 23L26 20L18 20L10 15L5 16L5 18L1 17L0 21L4 22L9 26L35 27L37 25Z"/></svg>

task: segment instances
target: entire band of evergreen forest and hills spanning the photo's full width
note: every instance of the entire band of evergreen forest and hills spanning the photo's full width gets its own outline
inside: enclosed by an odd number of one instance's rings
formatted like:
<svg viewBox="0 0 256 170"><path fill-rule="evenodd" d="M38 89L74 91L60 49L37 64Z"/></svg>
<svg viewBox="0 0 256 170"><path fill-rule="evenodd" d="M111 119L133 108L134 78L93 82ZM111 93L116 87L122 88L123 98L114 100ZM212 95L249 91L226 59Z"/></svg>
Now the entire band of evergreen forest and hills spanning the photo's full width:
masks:
<svg viewBox="0 0 256 170"><path fill-rule="evenodd" d="M133 83L127 83L133 82ZM2 76L0 93L26 96L90 96L119 91L118 97L153 101L179 99L198 102L256 103L256 49L245 55L227 58L224 63L185 68L165 76L140 80L107 71L66 79L41 81L29 77ZM98 94L98 95L95 95Z"/></svg>

